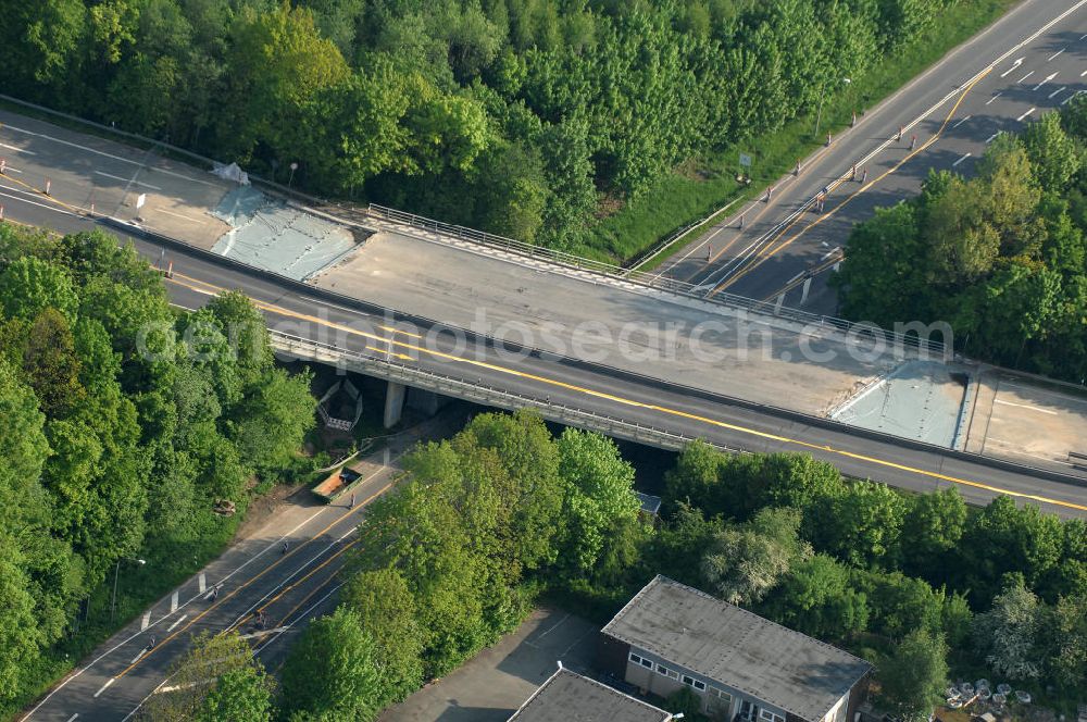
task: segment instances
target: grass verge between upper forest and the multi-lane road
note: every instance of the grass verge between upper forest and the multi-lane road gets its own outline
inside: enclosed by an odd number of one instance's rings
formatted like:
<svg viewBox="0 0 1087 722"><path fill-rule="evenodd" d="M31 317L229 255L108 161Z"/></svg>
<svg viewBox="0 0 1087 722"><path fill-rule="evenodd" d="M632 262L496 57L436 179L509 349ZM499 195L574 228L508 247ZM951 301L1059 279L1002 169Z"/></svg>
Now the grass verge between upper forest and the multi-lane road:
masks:
<svg viewBox="0 0 1087 722"><path fill-rule="evenodd" d="M847 91L828 98L821 128L837 134L848 125L854 108L860 111L878 104L1016 2L976 0L950 9L930 30L854 78ZM811 116L798 117L776 133L739 141L702 159L698 174L677 173L662 178L642 196L591 227L585 242L573 252L623 263L645 253L676 228L704 217L744 194L758 197L762 189L788 173L798 158L807 158L821 145L812 137L813 123ZM752 183L748 187L740 187L735 180L741 151L753 159ZM686 238L696 237L695 234L704 231L707 225L692 228L685 234ZM682 240L674 244L670 250L680 248L682 244ZM639 269L651 270L670 254L669 251L658 253Z"/></svg>

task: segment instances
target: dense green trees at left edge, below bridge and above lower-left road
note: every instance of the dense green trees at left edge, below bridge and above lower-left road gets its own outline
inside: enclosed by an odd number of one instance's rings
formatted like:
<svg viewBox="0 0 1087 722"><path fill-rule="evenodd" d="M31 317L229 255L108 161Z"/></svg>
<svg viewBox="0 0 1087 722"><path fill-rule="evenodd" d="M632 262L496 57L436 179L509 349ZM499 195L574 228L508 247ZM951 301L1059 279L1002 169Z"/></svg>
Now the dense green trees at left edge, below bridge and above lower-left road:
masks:
<svg viewBox="0 0 1087 722"><path fill-rule="evenodd" d="M155 594L217 552L314 407L246 297L179 312L112 236L0 224L0 714L111 631L117 564Z"/></svg>

